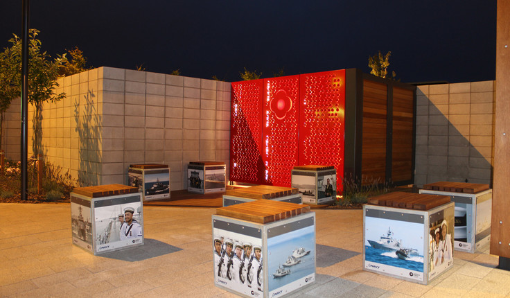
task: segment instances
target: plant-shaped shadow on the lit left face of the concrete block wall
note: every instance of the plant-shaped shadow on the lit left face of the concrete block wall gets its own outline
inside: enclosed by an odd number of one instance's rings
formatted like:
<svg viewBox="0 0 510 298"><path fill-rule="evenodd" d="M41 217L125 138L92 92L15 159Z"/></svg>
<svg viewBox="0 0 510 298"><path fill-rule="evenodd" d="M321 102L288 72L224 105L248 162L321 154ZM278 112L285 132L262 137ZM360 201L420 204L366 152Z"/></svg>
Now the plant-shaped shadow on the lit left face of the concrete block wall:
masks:
<svg viewBox="0 0 510 298"><path fill-rule="evenodd" d="M80 186L99 184L101 117L94 104L96 94L89 90L83 96L84 104L74 103L74 120L78 132L78 183Z"/></svg>

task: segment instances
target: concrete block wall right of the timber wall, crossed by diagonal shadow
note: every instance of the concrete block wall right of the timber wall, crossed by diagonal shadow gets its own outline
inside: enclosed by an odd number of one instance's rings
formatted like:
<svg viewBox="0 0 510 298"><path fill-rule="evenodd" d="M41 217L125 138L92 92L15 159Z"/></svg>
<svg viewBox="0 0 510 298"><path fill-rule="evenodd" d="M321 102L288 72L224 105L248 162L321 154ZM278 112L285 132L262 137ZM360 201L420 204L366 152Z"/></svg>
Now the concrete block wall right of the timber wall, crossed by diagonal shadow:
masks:
<svg viewBox="0 0 510 298"><path fill-rule="evenodd" d="M491 184L494 92L494 81L418 87L414 184Z"/></svg>

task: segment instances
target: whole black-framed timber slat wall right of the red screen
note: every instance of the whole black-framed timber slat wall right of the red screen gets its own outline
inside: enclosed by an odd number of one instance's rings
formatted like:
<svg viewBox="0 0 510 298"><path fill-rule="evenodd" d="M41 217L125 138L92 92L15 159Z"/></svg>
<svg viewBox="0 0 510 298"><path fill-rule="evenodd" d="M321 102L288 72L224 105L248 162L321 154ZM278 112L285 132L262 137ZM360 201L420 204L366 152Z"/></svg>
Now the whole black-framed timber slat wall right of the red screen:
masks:
<svg viewBox="0 0 510 298"><path fill-rule="evenodd" d="M416 87L346 69L344 177L414 183Z"/></svg>

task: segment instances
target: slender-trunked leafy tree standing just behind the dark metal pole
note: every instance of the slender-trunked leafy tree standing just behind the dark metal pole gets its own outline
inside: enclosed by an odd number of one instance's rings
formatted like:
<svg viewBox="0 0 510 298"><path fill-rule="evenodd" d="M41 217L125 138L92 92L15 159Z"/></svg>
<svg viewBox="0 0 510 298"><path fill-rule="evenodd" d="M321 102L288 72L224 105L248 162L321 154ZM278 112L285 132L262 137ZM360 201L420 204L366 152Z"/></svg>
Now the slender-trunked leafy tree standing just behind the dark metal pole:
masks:
<svg viewBox="0 0 510 298"><path fill-rule="evenodd" d="M55 94L55 88L58 87L57 78L59 76L62 64L67 62L66 54L57 55L57 58L51 60L46 51L42 52L42 42L37 39L39 30L30 29L28 31L28 103L35 106L33 119L33 154L42 153L42 105L46 102L65 98L65 94ZM12 44L12 53L17 63L17 72L21 73L21 38L14 35L9 42ZM17 76L17 85L21 85L21 76Z"/></svg>

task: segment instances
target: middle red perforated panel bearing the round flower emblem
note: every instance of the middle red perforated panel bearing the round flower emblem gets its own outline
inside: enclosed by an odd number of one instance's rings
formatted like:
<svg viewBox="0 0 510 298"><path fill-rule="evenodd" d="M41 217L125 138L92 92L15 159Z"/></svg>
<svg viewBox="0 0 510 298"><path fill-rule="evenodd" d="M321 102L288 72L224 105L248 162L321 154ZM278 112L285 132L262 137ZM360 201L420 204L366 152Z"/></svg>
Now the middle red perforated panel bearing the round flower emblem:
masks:
<svg viewBox="0 0 510 298"><path fill-rule="evenodd" d="M299 76L264 80L262 160L265 184L290 186L298 161Z"/></svg>

